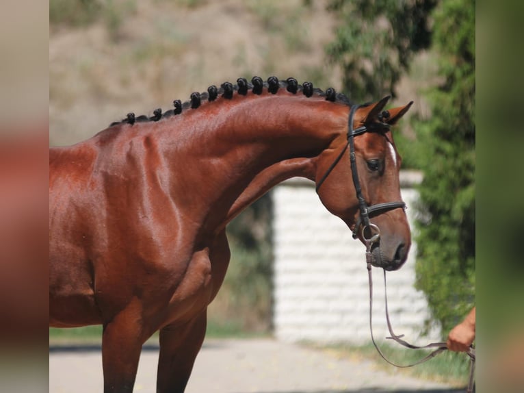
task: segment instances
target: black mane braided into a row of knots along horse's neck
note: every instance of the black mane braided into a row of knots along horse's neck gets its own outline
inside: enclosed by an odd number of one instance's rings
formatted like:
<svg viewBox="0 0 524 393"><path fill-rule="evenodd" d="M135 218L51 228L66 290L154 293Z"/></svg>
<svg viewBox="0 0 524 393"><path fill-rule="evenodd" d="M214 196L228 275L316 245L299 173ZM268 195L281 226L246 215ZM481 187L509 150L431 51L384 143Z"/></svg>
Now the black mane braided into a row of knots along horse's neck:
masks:
<svg viewBox="0 0 524 393"><path fill-rule="evenodd" d="M218 97L224 97L225 99L232 99L235 92L240 95L247 95L248 91L251 90L253 94L262 94L263 89L267 89L268 92L276 94L279 89L285 89L292 94L304 94L306 97L326 97L326 101L344 103L345 105L352 105L350 99L344 94L337 93L334 88L328 88L325 92L319 88L313 88L311 82L304 82L298 84L295 78L287 78L285 81L279 81L277 77L269 77L267 81L263 81L260 77L252 77L251 81L248 82L246 78L237 79L237 84L233 85L230 82L224 82L217 88L215 85L209 86L207 92L193 92L189 97L189 101L182 103L180 100L173 101L174 109L163 112L160 108L153 111L153 116L148 117L146 115L140 115L135 117L133 112L127 114L126 118L122 121L116 121L111 123L109 127L114 125L127 123L133 125L137 122L146 121L159 121L161 118L168 118L170 116L176 116L181 114L183 110L196 109L200 107L202 101L215 101Z"/></svg>

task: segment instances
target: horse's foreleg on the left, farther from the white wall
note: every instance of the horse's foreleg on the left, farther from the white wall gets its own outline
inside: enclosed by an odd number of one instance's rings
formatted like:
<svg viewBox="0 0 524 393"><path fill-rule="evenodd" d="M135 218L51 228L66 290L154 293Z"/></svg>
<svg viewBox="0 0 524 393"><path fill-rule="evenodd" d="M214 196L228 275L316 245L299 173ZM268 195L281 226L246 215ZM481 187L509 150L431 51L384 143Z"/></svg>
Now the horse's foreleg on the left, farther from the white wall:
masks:
<svg viewBox="0 0 524 393"><path fill-rule="evenodd" d="M119 314L104 325L102 366L104 393L131 393L135 384L142 344L142 329L133 316Z"/></svg>

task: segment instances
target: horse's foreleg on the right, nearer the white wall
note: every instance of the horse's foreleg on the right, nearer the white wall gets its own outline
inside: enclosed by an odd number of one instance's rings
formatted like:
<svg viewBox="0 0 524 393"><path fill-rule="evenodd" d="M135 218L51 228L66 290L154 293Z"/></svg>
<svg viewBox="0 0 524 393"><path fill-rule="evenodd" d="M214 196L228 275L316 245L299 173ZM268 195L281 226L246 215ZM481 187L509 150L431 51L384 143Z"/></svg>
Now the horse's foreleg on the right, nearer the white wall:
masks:
<svg viewBox="0 0 524 393"><path fill-rule="evenodd" d="M183 326L160 331L157 393L182 393L204 342L207 309Z"/></svg>

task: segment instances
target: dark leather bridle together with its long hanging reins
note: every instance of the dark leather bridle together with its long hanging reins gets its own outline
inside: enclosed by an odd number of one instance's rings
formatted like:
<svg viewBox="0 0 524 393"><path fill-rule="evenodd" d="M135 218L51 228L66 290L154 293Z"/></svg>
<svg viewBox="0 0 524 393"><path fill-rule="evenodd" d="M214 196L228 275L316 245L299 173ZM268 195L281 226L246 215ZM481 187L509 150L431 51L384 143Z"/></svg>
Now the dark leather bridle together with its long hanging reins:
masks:
<svg viewBox="0 0 524 393"><path fill-rule="evenodd" d="M356 154L355 154L354 137L364 134L365 132L372 132L375 130L371 126L367 127L366 125L362 125L361 127L358 127L356 129L353 128L354 114L356 110L358 109L358 107L360 107L360 105L352 105L350 109L350 116L348 118L348 142L345 144L344 149L341 151L341 153L339 153L339 155L337 156L335 161L330 165L328 170L326 170L326 173L324 173L322 178L319 180L319 182L317 183L316 190L318 192L320 186L322 186L322 183L324 183L328 175L330 175L333 168L335 168L335 166L339 163L345 151L349 147L351 173L352 173L353 184L354 184L354 188L356 192L356 198L358 199L358 209L360 211L359 212L360 214L356 221L356 225L353 229L353 238L357 238L358 229L362 227L362 237L366 245L366 263L367 263L367 271L368 271L368 279L369 279L369 330L371 332L371 341L373 342L379 355L387 363L391 364L392 366L398 367L398 368L408 368L408 367L416 366L417 364L427 362L429 359L432 359L439 353L447 351L447 345L446 345L446 342L432 342L424 346L417 346L417 345L410 344L409 342L406 342L405 340L402 340L402 337L404 337L404 335L397 335L393 332L393 327L391 326L391 320L389 318L389 311L388 311L386 270L384 270L384 292L385 292L384 298L385 298L385 306L386 306L387 326L389 329L389 333L391 334L391 337L387 337L387 339L394 340L395 342L399 343L400 345L405 346L406 348L410 348L410 349L434 348L434 350L415 363L399 365L387 359L387 357L384 355L384 353L382 353L382 351L380 351L380 348L378 347L378 345L375 342L375 338L373 335L373 316L372 316L373 315L372 313L373 311L373 278L371 274L371 260L372 260L371 246L373 246L374 243L380 240L380 229L369 221L369 217L372 214L382 214L389 210L397 209L399 207L405 210L406 203L402 201L386 202L386 203L377 203L376 205L370 206L365 201L365 198L363 197L363 194L362 194L361 183L358 179L358 171L356 168ZM387 112L382 112L382 116L387 118L389 114L387 114ZM377 126L380 127L380 129L384 129L384 128L389 129L389 125L387 123L379 123L377 124ZM365 229L369 229L369 238L366 237ZM469 355L471 359L470 372L469 372L469 383L468 383L467 392L471 393L473 392L473 384L474 384L474 376L475 376L475 349L473 348L473 346L470 346L469 351L467 352L467 355Z"/></svg>

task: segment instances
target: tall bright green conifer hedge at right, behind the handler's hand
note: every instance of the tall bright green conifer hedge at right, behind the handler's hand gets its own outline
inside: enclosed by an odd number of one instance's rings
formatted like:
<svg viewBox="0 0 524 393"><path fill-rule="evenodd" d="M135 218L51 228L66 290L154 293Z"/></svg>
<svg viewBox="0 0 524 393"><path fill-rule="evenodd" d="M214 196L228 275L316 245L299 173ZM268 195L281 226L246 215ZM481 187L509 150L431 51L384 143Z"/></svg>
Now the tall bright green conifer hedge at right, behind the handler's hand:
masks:
<svg viewBox="0 0 524 393"><path fill-rule="evenodd" d="M475 3L445 1L434 12L434 50L443 82L419 121L424 173L417 221L417 288L443 334L475 294Z"/></svg>

